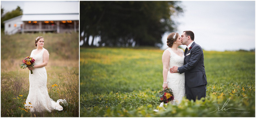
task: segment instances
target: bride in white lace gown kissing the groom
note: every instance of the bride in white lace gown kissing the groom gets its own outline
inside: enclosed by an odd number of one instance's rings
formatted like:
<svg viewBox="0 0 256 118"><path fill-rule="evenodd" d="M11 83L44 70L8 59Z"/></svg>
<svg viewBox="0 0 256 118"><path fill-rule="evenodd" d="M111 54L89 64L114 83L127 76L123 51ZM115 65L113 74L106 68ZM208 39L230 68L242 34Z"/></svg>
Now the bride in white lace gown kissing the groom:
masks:
<svg viewBox="0 0 256 118"><path fill-rule="evenodd" d="M179 105L185 96L185 74L170 73L169 69L173 66L184 65L184 51L178 46L182 44L182 40L178 33L172 32L167 37L167 45L169 46L163 53L163 89L171 88L173 90L173 105ZM171 103L171 102L169 102ZM163 107L163 102L159 105ZM154 110L158 111L158 110Z"/></svg>

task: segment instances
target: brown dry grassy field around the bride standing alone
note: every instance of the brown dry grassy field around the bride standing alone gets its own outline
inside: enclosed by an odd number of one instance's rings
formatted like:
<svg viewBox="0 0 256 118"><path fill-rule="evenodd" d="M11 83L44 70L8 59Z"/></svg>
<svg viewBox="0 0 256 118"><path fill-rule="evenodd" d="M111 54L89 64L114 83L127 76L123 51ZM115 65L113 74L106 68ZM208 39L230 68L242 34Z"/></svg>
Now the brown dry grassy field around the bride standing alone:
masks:
<svg viewBox="0 0 256 118"><path fill-rule="evenodd" d="M50 58L47 88L54 101L66 99L63 111L29 113L24 109L29 92L29 70L20 69L22 59L36 47L37 36L45 38ZM52 86L52 85L58 86ZM1 34L1 117L79 117L79 34Z"/></svg>

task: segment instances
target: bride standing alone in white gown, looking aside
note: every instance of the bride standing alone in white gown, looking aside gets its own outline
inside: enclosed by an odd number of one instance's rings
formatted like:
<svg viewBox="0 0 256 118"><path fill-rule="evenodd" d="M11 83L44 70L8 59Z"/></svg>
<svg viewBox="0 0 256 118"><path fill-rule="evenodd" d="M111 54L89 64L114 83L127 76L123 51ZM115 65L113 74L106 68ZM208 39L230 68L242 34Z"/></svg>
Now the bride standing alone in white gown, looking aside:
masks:
<svg viewBox="0 0 256 118"><path fill-rule="evenodd" d="M29 72L29 94L25 103L25 108L29 108L30 112L41 112L52 110L63 110L59 102L66 102L66 100L59 99L57 102L53 101L48 94L46 87L47 73L45 66L48 64L49 52L43 48L44 38L38 36L35 41L37 49L32 50L30 57L35 59L35 65L29 67L33 70L33 74Z"/></svg>

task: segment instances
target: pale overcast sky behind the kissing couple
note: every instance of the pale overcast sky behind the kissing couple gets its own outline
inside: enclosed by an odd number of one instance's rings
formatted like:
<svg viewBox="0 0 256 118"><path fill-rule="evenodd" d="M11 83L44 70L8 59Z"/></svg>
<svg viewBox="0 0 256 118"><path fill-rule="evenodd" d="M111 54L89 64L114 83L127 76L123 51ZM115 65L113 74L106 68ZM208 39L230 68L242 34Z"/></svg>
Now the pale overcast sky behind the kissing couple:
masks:
<svg viewBox="0 0 256 118"><path fill-rule="evenodd" d="M191 30L205 50L255 48L255 1L182 1L184 13L175 18L178 32ZM163 36L164 46L168 34ZM182 46L186 48L186 46Z"/></svg>

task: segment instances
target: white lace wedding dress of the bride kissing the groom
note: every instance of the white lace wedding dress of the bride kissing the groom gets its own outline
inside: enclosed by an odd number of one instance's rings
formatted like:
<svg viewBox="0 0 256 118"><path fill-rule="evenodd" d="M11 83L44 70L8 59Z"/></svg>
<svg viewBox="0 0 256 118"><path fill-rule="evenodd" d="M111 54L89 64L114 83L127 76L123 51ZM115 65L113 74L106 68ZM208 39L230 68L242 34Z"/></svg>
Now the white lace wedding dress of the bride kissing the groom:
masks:
<svg viewBox="0 0 256 118"><path fill-rule="evenodd" d="M167 48L171 55L169 61L169 69L167 74L167 82L168 88L171 88L174 95L173 105L179 105L182 98L185 96L185 73L170 73L170 68L173 66L181 67L184 65L184 51L180 49L182 52L182 57L175 54L171 48ZM169 102L171 103L171 102ZM163 107L164 103L162 102L159 107ZM158 111L158 110L154 110Z"/></svg>

